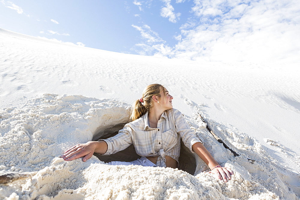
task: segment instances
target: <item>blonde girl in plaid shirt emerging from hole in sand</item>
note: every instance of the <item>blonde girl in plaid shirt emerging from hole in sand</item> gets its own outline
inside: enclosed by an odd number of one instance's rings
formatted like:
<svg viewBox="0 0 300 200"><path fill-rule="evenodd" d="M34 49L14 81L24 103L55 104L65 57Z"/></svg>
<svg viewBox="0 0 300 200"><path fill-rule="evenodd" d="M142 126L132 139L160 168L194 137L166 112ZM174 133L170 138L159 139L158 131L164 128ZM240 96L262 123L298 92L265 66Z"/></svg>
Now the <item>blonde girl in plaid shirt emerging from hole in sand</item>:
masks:
<svg viewBox="0 0 300 200"><path fill-rule="evenodd" d="M232 170L221 167L196 137L182 113L173 108L173 96L160 84L151 84L137 100L130 122L114 137L106 140L90 141L77 144L61 156L64 160L83 157L85 162L94 152L102 155L114 154L126 149L131 144L141 158L132 162L112 161L112 165L142 165L154 167L179 166L180 138L191 152L195 152L211 169L210 173L219 180L231 179Z"/></svg>

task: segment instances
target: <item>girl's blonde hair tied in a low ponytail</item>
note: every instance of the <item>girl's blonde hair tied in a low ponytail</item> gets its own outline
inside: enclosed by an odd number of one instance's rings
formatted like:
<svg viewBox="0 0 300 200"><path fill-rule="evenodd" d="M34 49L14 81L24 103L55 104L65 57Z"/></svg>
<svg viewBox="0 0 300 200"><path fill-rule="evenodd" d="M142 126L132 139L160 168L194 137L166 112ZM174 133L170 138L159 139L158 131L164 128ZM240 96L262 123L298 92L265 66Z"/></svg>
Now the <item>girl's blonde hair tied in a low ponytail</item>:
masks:
<svg viewBox="0 0 300 200"><path fill-rule="evenodd" d="M142 95L142 99L144 102L142 103L139 99L134 103L130 116L132 121L139 119L141 116L146 114L148 110L150 110L150 108L153 106L152 96L155 95L160 97L160 93L162 90L164 90L164 86L161 84L151 84L144 89Z"/></svg>

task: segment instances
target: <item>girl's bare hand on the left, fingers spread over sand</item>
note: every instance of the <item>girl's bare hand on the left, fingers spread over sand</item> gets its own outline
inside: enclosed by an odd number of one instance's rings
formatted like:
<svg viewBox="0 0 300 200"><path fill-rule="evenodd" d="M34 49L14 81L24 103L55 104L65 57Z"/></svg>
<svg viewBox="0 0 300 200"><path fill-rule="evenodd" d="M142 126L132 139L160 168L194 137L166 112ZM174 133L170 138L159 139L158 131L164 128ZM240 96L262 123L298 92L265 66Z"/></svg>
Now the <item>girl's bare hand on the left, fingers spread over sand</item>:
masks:
<svg viewBox="0 0 300 200"><path fill-rule="evenodd" d="M85 144L77 144L61 156L65 161L75 160L77 158L83 157L83 162L90 159L95 152L97 141L87 142Z"/></svg>

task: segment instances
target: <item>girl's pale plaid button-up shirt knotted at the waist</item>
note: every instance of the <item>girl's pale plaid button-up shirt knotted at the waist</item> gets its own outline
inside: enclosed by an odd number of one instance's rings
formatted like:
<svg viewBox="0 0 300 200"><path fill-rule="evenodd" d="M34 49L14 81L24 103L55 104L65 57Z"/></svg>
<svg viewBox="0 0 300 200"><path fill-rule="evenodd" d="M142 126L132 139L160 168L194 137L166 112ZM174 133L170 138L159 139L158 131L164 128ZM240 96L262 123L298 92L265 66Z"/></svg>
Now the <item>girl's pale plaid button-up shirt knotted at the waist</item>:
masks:
<svg viewBox="0 0 300 200"><path fill-rule="evenodd" d="M179 110L172 108L164 111L158 120L157 128L149 126L147 112L139 119L126 124L116 136L105 139L107 151L103 155L114 154L134 144L138 155L159 156L156 166L166 167L165 156L172 157L178 162L180 138L192 153L192 145L202 143Z"/></svg>

